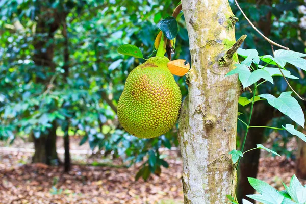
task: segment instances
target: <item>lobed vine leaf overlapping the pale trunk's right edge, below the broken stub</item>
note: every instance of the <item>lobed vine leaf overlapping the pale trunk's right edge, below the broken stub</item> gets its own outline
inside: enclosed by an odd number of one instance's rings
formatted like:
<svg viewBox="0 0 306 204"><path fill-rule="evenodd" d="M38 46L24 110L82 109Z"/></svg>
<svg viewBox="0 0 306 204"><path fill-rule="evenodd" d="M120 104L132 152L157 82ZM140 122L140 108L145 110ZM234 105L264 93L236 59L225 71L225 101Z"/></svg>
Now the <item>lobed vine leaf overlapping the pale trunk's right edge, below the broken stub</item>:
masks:
<svg viewBox="0 0 306 204"><path fill-rule="evenodd" d="M233 75L235 73L238 73L238 77L239 77L240 82L243 85L243 88L254 84L255 82L257 82L261 78L263 78L265 80L268 80L269 82L271 82L273 84L273 79L272 79L271 75L269 74L269 72L267 72L263 69L258 69L258 70L255 70L255 71L251 72L249 70L249 68L244 64L235 64L235 66L237 68L228 72L226 74L226 76L230 76L230 75Z"/></svg>

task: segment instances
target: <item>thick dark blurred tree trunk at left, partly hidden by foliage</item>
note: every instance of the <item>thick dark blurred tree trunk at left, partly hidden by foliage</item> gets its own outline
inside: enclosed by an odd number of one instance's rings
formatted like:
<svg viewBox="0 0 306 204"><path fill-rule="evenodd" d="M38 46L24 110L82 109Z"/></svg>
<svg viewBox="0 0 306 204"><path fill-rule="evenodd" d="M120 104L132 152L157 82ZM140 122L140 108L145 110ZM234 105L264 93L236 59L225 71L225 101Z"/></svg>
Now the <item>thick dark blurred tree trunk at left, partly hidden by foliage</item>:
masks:
<svg viewBox="0 0 306 204"><path fill-rule="evenodd" d="M43 9L41 8L41 10ZM33 43L35 48L33 61L39 67L38 70L43 72L46 77L43 79L37 75L36 83L47 84L49 82L47 73L55 72L55 64L53 63L54 32L60 27L62 16L63 14L59 14L57 11L42 11L38 17ZM49 23L51 18L54 18L54 20ZM39 138L34 138L35 153L32 158L33 163L41 162L48 165L59 163L56 152L56 121L53 121L52 125L48 133L41 133Z"/></svg>

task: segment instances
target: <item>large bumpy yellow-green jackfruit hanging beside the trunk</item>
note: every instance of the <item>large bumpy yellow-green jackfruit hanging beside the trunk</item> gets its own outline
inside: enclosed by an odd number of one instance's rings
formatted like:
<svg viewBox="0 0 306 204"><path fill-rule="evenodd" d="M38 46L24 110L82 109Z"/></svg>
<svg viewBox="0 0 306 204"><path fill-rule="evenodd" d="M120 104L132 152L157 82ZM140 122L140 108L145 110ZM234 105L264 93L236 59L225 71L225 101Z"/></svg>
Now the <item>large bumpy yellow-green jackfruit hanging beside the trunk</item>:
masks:
<svg viewBox="0 0 306 204"><path fill-rule="evenodd" d="M166 57L152 57L128 76L118 102L122 127L138 138L153 138L175 124L182 94Z"/></svg>

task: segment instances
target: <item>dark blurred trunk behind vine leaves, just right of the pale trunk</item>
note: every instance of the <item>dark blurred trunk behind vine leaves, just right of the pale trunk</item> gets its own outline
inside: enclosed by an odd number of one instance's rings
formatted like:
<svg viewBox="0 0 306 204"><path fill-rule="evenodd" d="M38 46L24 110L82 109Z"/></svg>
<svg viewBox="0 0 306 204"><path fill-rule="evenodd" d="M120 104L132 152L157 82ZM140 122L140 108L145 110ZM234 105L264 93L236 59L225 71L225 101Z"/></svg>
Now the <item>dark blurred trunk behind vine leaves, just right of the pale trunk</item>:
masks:
<svg viewBox="0 0 306 204"><path fill-rule="evenodd" d="M263 103L262 101L257 102L254 105L253 116L250 126L266 126L266 124L273 118L272 106ZM247 135L247 140L244 146L245 151L255 148L256 144L261 144L264 140L263 128L250 128ZM243 138L242 138L243 139ZM237 184L237 198L238 202L242 203L242 199L253 201L245 195L254 194L254 188L249 184L247 177L257 177L258 163L260 157L260 150L256 149L247 152L241 158L240 166L238 170L238 184Z"/></svg>

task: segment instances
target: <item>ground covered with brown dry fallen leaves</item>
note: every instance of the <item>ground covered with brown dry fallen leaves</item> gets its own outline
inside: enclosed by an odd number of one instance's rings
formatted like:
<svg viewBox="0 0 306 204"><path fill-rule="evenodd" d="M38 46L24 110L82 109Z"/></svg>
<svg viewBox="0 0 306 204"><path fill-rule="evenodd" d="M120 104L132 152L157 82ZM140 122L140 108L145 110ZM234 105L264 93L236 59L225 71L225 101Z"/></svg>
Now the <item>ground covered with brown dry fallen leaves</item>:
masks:
<svg viewBox="0 0 306 204"><path fill-rule="evenodd" d="M78 146L79 138L72 137L71 149L89 149ZM61 149L62 138L58 148ZM1 146L7 144L0 143ZM32 143L16 141L13 147L31 149ZM109 163L100 156L72 154L74 164L69 173L62 167L30 164L32 152L9 151L0 148L0 202L1 203L183 203L182 161L171 151L160 176L152 175L147 182L135 181L137 166L118 168L84 165L93 161ZM294 162L262 154L259 179L283 189L294 174ZM63 155L60 154L60 157ZM119 164L120 161L111 161Z"/></svg>

